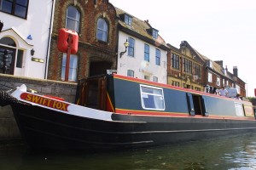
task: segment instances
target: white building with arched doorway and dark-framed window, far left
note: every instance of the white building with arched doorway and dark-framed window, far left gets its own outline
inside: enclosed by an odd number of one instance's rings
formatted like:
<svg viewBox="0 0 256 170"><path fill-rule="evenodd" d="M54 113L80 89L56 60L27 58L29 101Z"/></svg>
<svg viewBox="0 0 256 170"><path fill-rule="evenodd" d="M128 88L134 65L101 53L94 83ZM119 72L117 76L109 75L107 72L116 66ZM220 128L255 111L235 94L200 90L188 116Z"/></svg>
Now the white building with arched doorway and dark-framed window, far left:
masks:
<svg viewBox="0 0 256 170"><path fill-rule="evenodd" d="M54 3L55 0L0 1L0 73L4 51L9 50L6 74L46 77Z"/></svg>

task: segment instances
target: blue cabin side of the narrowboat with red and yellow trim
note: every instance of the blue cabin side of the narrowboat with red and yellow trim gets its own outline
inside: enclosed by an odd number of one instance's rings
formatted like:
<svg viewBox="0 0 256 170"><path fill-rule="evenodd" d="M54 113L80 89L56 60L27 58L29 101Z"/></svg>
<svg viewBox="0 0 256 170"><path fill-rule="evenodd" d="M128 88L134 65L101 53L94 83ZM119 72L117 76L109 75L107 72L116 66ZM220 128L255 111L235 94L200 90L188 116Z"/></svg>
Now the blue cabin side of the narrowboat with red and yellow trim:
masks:
<svg viewBox="0 0 256 170"><path fill-rule="evenodd" d="M155 116L254 117L253 105L250 102L186 88L119 75L113 76L113 88L117 113ZM160 104L160 99L163 99L163 104ZM155 106L156 103L158 103L157 106Z"/></svg>

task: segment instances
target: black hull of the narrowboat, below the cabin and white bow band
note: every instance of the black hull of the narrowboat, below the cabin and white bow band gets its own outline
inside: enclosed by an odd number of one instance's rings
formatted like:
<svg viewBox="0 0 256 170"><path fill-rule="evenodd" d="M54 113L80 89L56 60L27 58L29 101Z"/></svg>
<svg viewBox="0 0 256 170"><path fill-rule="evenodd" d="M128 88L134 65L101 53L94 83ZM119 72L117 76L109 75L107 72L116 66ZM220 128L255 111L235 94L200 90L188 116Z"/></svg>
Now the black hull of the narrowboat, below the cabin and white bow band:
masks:
<svg viewBox="0 0 256 170"><path fill-rule="evenodd" d="M22 103L12 109L32 150L126 150L256 132L253 120L113 114L104 121Z"/></svg>

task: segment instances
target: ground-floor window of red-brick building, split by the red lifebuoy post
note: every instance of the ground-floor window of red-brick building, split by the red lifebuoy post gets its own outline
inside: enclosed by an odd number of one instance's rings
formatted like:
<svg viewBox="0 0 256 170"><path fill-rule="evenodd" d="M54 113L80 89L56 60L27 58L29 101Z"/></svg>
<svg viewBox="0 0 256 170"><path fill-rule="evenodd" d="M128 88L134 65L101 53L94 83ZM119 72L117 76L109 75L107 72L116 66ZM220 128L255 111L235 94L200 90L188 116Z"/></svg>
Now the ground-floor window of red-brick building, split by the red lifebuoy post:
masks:
<svg viewBox="0 0 256 170"><path fill-rule="evenodd" d="M65 80L66 59L67 59L67 54L63 54L62 67L61 67L62 81ZM78 74L78 56L71 54L70 63L69 63L68 82L77 82L77 74Z"/></svg>

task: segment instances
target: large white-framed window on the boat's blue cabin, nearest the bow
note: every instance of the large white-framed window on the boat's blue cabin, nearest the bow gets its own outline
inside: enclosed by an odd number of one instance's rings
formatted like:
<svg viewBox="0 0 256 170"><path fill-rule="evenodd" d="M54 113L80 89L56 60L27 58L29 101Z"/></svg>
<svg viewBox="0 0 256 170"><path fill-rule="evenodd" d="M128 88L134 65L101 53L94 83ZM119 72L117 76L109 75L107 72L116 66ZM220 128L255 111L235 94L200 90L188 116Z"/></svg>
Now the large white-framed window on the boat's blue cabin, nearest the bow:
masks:
<svg viewBox="0 0 256 170"><path fill-rule="evenodd" d="M146 110L165 110L165 99L163 88L141 85L141 99L143 109Z"/></svg>

